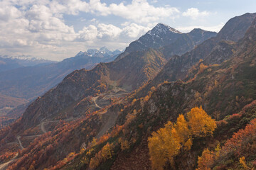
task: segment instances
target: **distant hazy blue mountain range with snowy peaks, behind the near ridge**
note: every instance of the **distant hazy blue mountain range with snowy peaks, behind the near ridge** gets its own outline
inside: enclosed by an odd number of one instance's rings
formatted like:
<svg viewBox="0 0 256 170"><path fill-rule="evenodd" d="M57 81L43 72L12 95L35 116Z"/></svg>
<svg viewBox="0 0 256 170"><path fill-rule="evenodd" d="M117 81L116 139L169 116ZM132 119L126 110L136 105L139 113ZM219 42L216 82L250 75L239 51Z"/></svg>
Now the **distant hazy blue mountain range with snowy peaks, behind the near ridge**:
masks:
<svg viewBox="0 0 256 170"><path fill-rule="evenodd" d="M100 50L78 52L75 57L62 62L0 58L0 64L3 64L0 67L2 70L0 72L0 100L5 101L1 103L0 109L8 106L10 110L25 101L31 101L53 88L75 69L92 69L97 63L114 60L119 53L119 50L112 52L102 47ZM26 65L30 66L26 67ZM8 97L9 99L6 100ZM15 101L23 102L15 103ZM0 113L5 114L6 111L0 110Z"/></svg>

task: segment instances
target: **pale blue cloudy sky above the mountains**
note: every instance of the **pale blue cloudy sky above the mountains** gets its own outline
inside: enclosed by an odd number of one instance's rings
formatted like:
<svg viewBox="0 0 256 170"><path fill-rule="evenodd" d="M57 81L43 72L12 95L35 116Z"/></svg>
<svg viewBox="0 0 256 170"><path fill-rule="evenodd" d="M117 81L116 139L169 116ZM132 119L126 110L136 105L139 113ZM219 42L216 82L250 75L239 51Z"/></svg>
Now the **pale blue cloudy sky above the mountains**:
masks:
<svg viewBox="0 0 256 170"><path fill-rule="evenodd" d="M157 23L218 32L255 0L0 0L0 55L60 61L80 51L123 50Z"/></svg>

